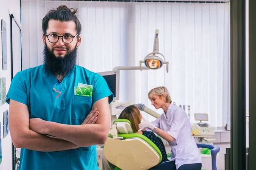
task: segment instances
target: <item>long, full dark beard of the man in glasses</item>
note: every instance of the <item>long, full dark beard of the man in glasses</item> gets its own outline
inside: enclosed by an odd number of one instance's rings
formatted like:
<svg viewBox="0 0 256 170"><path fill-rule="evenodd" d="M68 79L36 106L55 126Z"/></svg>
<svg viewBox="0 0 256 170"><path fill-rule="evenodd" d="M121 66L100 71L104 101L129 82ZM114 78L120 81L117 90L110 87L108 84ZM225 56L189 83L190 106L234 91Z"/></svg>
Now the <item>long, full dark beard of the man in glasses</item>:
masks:
<svg viewBox="0 0 256 170"><path fill-rule="evenodd" d="M77 47L74 50L68 51L64 57L56 57L53 49L50 50L47 45L44 45L44 70L47 74L49 71L58 76L65 76L68 71L76 64Z"/></svg>

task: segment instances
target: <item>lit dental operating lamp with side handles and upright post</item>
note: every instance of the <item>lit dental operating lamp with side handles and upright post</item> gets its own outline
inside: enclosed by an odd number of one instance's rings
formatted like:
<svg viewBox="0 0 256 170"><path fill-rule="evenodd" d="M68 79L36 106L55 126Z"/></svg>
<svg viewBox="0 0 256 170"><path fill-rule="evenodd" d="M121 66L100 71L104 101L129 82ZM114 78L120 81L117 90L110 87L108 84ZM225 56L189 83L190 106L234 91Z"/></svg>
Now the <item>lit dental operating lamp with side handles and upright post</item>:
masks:
<svg viewBox="0 0 256 170"><path fill-rule="evenodd" d="M149 53L145 58L144 60L140 60L140 71L142 70L142 67L141 67L141 63L145 63L146 67L147 68L150 68L150 69L159 69L163 66L163 64L166 64L166 71L168 73L168 65L169 65L169 62L166 62L165 61L165 58L163 56L163 54L161 54L159 51L158 51L158 45L159 45L159 42L158 42L158 33L159 33L159 30L156 29L155 31L155 38L154 38L154 48L153 48L153 52L152 53ZM163 59L162 59L162 58Z"/></svg>

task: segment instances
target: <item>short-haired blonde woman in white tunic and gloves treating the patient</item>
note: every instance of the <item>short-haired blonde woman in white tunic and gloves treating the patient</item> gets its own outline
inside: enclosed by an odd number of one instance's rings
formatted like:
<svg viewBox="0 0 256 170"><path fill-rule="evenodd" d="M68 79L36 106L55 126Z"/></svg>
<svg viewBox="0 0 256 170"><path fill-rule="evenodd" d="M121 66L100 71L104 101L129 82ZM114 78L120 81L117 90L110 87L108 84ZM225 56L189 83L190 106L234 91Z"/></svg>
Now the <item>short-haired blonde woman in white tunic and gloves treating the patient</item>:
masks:
<svg viewBox="0 0 256 170"><path fill-rule="evenodd" d="M171 160L158 164L151 170L169 170L169 167L174 165L177 170L201 170L201 156L184 109L172 104L169 91L163 86L150 90L148 99L150 99L151 105L156 109L162 108L164 113L154 122L143 119L139 129L151 129L168 141L172 148Z"/></svg>

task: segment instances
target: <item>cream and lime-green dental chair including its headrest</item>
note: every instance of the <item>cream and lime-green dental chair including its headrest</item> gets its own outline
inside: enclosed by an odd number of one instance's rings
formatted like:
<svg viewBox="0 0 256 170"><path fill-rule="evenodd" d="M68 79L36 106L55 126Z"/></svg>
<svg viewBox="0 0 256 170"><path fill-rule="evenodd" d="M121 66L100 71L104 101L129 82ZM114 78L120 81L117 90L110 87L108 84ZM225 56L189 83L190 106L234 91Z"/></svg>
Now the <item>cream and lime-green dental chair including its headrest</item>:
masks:
<svg viewBox="0 0 256 170"><path fill-rule="evenodd" d="M106 159L115 170L148 170L162 161L162 154L151 140L134 133L131 122L116 119L104 145Z"/></svg>

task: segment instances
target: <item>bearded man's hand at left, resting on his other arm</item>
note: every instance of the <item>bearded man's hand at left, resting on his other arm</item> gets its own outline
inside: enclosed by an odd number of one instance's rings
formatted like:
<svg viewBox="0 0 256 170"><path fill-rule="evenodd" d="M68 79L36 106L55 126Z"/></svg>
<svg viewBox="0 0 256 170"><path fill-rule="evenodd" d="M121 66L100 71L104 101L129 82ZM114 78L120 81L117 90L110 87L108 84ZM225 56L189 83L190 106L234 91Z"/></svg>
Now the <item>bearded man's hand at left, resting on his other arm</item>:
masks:
<svg viewBox="0 0 256 170"><path fill-rule="evenodd" d="M29 119L29 129L40 134L47 134L47 121L40 118Z"/></svg>

